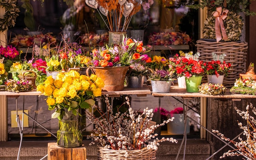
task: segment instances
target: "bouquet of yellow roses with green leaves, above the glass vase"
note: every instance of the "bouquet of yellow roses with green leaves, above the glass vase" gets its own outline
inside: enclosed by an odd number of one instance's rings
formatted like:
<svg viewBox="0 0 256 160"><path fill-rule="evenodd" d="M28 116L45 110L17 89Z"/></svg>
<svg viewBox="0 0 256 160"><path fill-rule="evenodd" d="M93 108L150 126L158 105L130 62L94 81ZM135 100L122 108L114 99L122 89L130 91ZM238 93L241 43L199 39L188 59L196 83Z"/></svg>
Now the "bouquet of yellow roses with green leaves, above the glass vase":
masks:
<svg viewBox="0 0 256 160"><path fill-rule="evenodd" d="M78 109L86 109L94 105L94 97L101 96L103 87L104 82L96 75L88 77L70 70L70 72L59 73L56 79L52 76L47 77L43 84L37 86L37 90L47 96L48 109L56 109L52 118L58 118L61 121L65 109L74 115L81 116Z"/></svg>

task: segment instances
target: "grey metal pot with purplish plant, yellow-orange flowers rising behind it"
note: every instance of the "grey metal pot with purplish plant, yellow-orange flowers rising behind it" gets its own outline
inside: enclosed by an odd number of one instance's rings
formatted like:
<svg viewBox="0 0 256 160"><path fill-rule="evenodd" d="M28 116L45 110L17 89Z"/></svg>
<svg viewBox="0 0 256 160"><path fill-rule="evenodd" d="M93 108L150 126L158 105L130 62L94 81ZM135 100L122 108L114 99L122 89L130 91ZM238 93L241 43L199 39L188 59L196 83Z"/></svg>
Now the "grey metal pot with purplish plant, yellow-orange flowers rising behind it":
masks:
<svg viewBox="0 0 256 160"><path fill-rule="evenodd" d="M175 80L174 72L168 71L168 59L161 56L154 56L151 63L148 63L149 79L151 81L152 91L159 93L170 92L171 83Z"/></svg>

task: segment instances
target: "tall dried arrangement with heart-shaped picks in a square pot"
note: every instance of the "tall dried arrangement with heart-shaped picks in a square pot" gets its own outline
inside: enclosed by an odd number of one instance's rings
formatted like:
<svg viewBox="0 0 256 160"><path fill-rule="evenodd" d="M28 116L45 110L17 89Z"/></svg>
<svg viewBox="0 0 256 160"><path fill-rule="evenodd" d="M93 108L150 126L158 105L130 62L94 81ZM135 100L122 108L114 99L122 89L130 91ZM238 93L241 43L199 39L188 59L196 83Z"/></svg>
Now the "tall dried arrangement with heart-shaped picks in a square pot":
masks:
<svg viewBox="0 0 256 160"><path fill-rule="evenodd" d="M130 24L132 15L137 13L141 9L141 5L144 5L148 9L150 4L153 4L153 0L147 2L139 1L109 1L103 0L85 0L85 3L96 9L101 15L102 20L106 24L109 31L108 44L120 44L122 39L126 37L126 30Z"/></svg>

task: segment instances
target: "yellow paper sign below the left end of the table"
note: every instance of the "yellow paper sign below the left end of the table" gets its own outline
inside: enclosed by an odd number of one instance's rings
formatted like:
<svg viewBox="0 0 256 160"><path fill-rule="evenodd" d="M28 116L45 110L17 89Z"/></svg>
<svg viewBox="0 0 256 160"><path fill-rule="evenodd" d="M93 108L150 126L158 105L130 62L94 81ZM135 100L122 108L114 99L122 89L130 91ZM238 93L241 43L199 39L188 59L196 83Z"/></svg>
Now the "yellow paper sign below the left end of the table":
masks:
<svg viewBox="0 0 256 160"><path fill-rule="evenodd" d="M24 110L25 113L29 113L28 110ZM11 111L11 127L18 127L17 119L16 119L16 113L17 111ZM22 110L18 111L18 116L20 119L20 127L22 127ZM29 118L27 115L24 114L24 120L23 120L23 127L29 127Z"/></svg>

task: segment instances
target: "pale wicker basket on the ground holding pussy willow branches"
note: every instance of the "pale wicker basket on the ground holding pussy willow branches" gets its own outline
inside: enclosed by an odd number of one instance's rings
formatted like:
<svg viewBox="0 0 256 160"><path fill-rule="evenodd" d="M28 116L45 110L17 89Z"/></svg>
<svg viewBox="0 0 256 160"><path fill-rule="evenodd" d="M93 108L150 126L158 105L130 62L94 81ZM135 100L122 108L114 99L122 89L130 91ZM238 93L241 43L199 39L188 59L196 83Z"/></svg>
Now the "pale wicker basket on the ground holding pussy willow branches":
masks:
<svg viewBox="0 0 256 160"><path fill-rule="evenodd" d="M125 157L125 153L128 153ZM157 151L154 149L140 149L140 150L113 150L105 149L98 146L97 157L98 160L155 160Z"/></svg>

